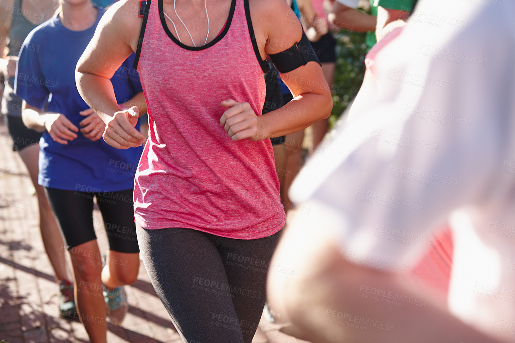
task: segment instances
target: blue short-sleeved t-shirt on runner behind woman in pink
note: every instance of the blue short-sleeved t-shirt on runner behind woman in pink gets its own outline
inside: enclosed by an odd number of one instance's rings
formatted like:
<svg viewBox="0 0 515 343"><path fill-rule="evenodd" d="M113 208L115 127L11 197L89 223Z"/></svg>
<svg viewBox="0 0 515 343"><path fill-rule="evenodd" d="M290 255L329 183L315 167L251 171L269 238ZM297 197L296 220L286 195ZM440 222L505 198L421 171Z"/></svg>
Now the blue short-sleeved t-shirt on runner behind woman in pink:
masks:
<svg viewBox="0 0 515 343"><path fill-rule="evenodd" d="M83 31L67 29L57 15L33 29L23 43L16 71L14 92L18 96L30 106L64 114L79 129L85 118L79 112L89 106L75 85L75 66L105 12L97 9L95 24ZM142 91L133 61L134 54L111 78L118 104ZM142 151L142 147L115 149L104 139L92 142L80 131L75 140L59 144L45 131L40 140L38 183L83 192L128 190L134 187Z"/></svg>

